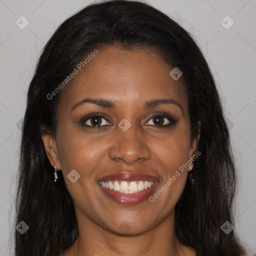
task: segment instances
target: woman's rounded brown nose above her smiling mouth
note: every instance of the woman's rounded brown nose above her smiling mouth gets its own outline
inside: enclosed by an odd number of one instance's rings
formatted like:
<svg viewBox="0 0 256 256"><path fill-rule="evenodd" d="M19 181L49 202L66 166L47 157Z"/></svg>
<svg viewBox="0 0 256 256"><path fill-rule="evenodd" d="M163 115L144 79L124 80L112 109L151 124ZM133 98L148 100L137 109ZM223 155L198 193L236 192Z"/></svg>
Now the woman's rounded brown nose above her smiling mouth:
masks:
<svg viewBox="0 0 256 256"><path fill-rule="evenodd" d="M112 138L109 149L109 157L115 161L124 161L126 164L134 164L150 158L150 150L146 145L142 131L131 125L128 130L123 131L119 127L117 134Z"/></svg>

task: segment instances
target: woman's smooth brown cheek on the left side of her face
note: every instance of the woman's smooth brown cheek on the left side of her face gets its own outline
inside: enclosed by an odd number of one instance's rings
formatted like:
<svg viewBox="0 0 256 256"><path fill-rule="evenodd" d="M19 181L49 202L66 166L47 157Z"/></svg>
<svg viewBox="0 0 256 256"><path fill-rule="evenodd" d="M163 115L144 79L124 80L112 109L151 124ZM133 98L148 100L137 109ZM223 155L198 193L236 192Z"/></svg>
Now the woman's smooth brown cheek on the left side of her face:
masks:
<svg viewBox="0 0 256 256"><path fill-rule="evenodd" d="M106 154L104 145L107 140L103 137L92 139L88 134L74 129L59 131L58 138L59 161L66 187L76 204L82 202L82 205L92 207L95 204L93 202L95 197L91 196L95 189L93 173L98 166L99 159ZM73 169L79 174L75 182L71 182L68 178L68 174ZM89 214L91 213L87 212L87 215Z"/></svg>

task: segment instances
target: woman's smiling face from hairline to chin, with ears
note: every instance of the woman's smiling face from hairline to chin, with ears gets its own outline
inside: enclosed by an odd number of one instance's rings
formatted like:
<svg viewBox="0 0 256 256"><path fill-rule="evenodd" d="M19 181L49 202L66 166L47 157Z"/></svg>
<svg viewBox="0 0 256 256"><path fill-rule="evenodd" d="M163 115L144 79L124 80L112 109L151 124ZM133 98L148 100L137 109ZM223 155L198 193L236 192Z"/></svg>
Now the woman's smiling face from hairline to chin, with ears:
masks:
<svg viewBox="0 0 256 256"><path fill-rule="evenodd" d="M65 88L56 137L43 141L62 170L78 226L92 221L135 234L174 216L191 168L180 166L191 162L196 139L190 139L184 86L169 75L172 69L152 49L109 46Z"/></svg>

